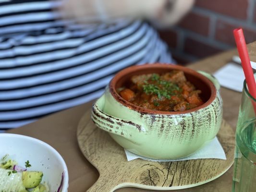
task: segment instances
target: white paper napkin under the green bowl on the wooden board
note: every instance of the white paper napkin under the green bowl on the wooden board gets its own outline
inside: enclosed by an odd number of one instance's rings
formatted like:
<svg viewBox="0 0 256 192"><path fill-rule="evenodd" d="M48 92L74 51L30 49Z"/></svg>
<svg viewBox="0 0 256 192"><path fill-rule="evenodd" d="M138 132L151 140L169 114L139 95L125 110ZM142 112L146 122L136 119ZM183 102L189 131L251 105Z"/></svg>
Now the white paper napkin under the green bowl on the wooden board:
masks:
<svg viewBox="0 0 256 192"><path fill-rule="evenodd" d="M157 161L157 162L185 161L185 160L191 160L191 159L208 159L208 158L223 159L223 160L227 159L225 152L221 144L219 143L219 140L217 137L215 137L209 144L207 144L206 146L204 146L202 149L198 150L194 154L181 159L177 159L177 160L150 159L144 156L135 155L134 153L131 153L127 150L124 150L124 151L128 161L131 161L137 158L141 158L147 161Z"/></svg>

